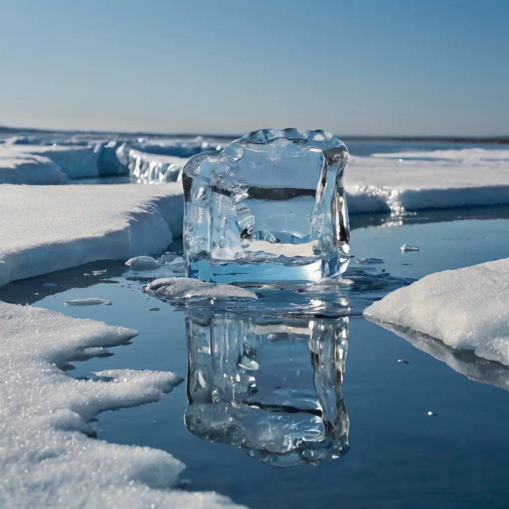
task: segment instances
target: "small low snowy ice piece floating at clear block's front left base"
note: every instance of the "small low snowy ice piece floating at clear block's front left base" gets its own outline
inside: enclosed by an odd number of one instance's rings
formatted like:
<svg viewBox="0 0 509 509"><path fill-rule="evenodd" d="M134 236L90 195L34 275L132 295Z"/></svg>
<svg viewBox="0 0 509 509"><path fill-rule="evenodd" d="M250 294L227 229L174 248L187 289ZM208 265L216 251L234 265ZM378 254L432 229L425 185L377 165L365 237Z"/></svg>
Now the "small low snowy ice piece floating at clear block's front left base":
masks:
<svg viewBox="0 0 509 509"><path fill-rule="evenodd" d="M212 299L247 298L256 299L253 292L233 285L218 285L188 277L163 277L154 279L144 288L144 292L161 298L207 297Z"/></svg>

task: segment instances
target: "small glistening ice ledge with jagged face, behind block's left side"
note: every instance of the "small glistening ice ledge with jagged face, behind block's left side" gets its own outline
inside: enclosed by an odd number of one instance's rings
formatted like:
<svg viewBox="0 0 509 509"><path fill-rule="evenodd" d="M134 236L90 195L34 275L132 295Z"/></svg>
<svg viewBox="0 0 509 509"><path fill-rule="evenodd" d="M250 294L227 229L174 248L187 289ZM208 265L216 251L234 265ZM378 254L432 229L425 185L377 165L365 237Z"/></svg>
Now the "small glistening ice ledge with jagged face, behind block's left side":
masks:
<svg viewBox="0 0 509 509"><path fill-rule="evenodd" d="M186 157L141 152L126 144L117 149L118 161L128 168L129 175L138 184L177 182L182 178Z"/></svg>

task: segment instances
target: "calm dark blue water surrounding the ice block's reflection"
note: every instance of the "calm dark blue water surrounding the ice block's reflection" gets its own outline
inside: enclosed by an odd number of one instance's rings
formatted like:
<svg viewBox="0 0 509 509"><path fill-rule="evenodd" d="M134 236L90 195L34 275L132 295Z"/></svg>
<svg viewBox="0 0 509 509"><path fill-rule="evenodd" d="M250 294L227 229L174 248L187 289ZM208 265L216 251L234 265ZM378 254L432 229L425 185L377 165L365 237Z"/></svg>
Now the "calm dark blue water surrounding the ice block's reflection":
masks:
<svg viewBox="0 0 509 509"><path fill-rule="evenodd" d="M345 348L341 375L344 407L337 407L343 424L345 418L349 421L348 453L316 467L274 468L242 448L200 438L184 423L185 384L158 403L99 414L92 423L98 438L167 450L186 464L184 477L190 491L213 490L253 509L325 508L337 503L348 507L505 507L509 395L504 388L509 387L509 370L470 352L447 349L431 338L405 341L361 313L370 301L412 279L506 258L507 216L506 209L492 208L419 212L398 220L352 217L356 258L344 279L353 283L323 297L339 303L334 308L336 316L349 316L348 353ZM402 253L403 244L418 246L419 251ZM171 247L177 254L179 248L179 241ZM376 263L366 263L370 259ZM185 378L183 311L140 290L147 279L164 275L173 274L168 274L167 267L135 273L121 262L94 262L6 285L0 289L0 300L139 331L131 344L110 349L113 356L75 363L68 374L76 378L125 368L171 371ZM293 295L294 302L308 305L313 301L320 307L319 299L305 292L280 292L290 300ZM76 299L104 299L111 305L65 305ZM261 301L257 299L256 305ZM245 313L249 314L248 306ZM329 325L334 317L326 320L330 319ZM287 382L312 387L306 343L283 337L254 357L260 363L256 373L261 394L260 379L271 356L276 368L274 380L267 382L272 384L269 388L284 389Z"/></svg>

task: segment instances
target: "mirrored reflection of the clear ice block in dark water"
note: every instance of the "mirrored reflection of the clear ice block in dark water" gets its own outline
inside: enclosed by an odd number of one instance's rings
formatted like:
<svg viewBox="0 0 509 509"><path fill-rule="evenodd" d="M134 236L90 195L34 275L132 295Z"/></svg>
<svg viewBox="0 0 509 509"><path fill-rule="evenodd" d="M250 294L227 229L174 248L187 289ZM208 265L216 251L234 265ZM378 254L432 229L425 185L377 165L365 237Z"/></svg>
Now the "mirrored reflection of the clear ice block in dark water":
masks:
<svg viewBox="0 0 509 509"><path fill-rule="evenodd" d="M345 454L347 320L187 309L186 427L278 467Z"/></svg>

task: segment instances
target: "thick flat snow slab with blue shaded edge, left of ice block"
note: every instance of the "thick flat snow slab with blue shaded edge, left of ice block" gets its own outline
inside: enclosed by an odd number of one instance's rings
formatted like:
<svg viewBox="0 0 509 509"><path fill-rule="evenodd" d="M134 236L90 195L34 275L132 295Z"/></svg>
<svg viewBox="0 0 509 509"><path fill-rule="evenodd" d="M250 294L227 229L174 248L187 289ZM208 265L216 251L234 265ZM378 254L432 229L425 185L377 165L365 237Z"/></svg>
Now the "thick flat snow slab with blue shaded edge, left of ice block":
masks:
<svg viewBox="0 0 509 509"><path fill-rule="evenodd" d="M164 251L182 235L182 187L0 185L0 286Z"/></svg>

